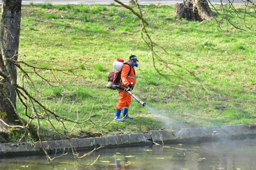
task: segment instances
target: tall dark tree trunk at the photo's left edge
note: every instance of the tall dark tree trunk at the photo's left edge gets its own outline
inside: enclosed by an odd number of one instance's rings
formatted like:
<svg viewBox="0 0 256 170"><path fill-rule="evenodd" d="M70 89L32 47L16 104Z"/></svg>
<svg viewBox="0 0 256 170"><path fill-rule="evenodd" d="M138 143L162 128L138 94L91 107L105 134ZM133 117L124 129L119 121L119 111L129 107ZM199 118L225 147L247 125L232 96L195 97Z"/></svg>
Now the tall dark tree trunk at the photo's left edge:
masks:
<svg viewBox="0 0 256 170"><path fill-rule="evenodd" d="M6 3L6 22L4 32L5 52L7 58L17 60L19 45L19 28L22 0L7 0ZM2 55L0 54L2 58ZM14 65L10 65L14 82L17 81L17 70ZM0 71L8 75L4 67L3 60L0 60ZM0 79L1 80L1 79ZM7 96L8 95L8 96ZM10 99L10 101L8 100ZM13 104L13 105L12 105ZM7 124L16 125L18 116L14 109L16 108L16 93L11 84L7 81L0 81L0 118ZM0 132L5 131L7 127L0 122Z"/></svg>

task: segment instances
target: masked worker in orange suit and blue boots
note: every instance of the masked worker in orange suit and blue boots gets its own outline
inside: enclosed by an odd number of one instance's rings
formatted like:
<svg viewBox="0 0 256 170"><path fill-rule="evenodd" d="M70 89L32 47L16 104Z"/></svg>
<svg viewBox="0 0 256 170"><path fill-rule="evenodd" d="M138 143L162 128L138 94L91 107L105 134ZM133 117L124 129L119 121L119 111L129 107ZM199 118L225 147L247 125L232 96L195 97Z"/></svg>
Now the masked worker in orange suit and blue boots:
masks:
<svg viewBox="0 0 256 170"><path fill-rule="evenodd" d="M136 84L136 76L134 66L138 67L138 60L135 55L129 57L129 61L123 64L121 72L120 85L124 85L129 90L132 90ZM132 96L125 92L123 89L119 90L119 101L116 106L115 120L119 122L124 122L123 118L133 119L133 117L128 116L128 109L131 104ZM123 118L120 118L121 110L123 109Z"/></svg>

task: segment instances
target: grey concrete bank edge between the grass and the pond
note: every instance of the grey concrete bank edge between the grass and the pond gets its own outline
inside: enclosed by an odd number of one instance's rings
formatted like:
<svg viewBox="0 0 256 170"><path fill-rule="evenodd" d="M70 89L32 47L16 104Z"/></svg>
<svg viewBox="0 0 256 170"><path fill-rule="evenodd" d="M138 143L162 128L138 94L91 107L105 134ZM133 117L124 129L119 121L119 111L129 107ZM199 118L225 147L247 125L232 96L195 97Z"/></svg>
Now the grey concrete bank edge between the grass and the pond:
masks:
<svg viewBox="0 0 256 170"><path fill-rule="evenodd" d="M174 131L151 131L150 133L123 134L95 138L81 138L70 140L44 141L42 144L48 151L63 151L71 149L90 150L95 147L123 147L129 145L146 145L154 143L200 142L230 137L256 137L256 126L228 125L202 128L184 128L178 133ZM41 153L40 142L27 143L0 143L0 154L18 155Z"/></svg>

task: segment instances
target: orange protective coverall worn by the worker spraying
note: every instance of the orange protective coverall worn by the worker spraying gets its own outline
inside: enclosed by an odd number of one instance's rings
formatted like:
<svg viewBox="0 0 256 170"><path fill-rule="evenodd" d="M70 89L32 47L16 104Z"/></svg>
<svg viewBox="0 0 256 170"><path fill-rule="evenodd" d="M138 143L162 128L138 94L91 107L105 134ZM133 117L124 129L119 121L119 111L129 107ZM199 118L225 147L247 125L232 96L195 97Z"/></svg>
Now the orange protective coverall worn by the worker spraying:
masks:
<svg viewBox="0 0 256 170"><path fill-rule="evenodd" d="M131 65L130 65L131 66ZM129 76L130 66L127 64L123 65L122 72L121 72L121 83L120 85L125 85L128 87L128 84L133 82L133 87L136 84L136 77L135 77L135 69L131 66L131 73ZM126 93L122 89L119 90L119 101L116 106L116 110L122 110L123 107L128 108L131 104L132 96L129 93Z"/></svg>

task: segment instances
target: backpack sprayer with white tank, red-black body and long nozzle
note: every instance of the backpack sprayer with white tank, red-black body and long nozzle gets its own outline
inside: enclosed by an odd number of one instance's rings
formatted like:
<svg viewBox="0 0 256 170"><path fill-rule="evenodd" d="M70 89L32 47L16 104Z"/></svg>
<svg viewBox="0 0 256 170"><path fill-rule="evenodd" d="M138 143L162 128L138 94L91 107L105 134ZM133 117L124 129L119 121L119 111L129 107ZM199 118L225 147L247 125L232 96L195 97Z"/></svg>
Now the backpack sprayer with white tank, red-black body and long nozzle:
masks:
<svg viewBox="0 0 256 170"><path fill-rule="evenodd" d="M132 88L129 87L127 88L126 86L120 85L120 79L121 79L121 70L123 67L123 60L116 60L113 64L114 68L116 69L115 71L110 71L109 74L109 83L106 85L106 88L110 88L113 90L116 89L122 89L125 92L129 93L133 99L135 99L137 102L139 102L139 104L141 104L142 106L146 106L146 103L143 102L137 95L135 95L134 93L132 93ZM131 71L129 71L130 74ZM128 74L128 76L129 76ZM131 85L133 85L133 83L131 83Z"/></svg>

